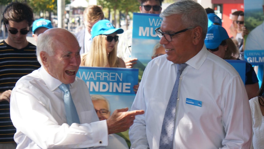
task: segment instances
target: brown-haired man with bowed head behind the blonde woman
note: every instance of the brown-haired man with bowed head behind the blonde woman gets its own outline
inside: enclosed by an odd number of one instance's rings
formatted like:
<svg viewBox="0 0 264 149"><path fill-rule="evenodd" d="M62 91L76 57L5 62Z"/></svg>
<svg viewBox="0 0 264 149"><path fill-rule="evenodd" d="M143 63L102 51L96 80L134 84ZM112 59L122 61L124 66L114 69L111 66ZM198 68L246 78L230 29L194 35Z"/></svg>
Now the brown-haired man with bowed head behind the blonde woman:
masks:
<svg viewBox="0 0 264 149"><path fill-rule="evenodd" d="M87 53L89 51L92 41L92 26L102 19L104 19L104 13L100 6L91 5L85 8L83 12L83 21L85 29L75 34L81 46L80 54Z"/></svg>

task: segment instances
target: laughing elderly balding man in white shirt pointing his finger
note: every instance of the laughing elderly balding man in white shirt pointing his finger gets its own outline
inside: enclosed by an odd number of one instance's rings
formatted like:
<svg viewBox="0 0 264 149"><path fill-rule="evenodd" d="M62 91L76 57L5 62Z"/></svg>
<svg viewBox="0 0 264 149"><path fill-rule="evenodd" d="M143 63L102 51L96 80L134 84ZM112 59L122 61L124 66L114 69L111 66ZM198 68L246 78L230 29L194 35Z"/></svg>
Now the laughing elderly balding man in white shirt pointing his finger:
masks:
<svg viewBox="0 0 264 149"><path fill-rule="evenodd" d="M127 130L135 115L144 113L118 109L109 119L99 121L88 87L76 77L80 46L68 30L53 28L40 34L37 58L40 69L19 79L11 94L10 116L17 129L17 149L105 148L108 134ZM69 86L73 101L70 109L65 106L61 84ZM77 113L72 117L78 117L79 122L69 124L68 111L73 107Z"/></svg>

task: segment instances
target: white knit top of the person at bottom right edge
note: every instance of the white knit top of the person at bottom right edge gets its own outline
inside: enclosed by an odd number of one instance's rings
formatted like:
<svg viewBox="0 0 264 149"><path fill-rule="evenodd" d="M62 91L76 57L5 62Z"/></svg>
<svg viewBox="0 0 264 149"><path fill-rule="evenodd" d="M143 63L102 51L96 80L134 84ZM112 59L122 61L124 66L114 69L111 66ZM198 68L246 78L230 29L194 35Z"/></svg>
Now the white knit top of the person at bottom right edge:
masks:
<svg viewBox="0 0 264 149"><path fill-rule="evenodd" d="M262 115L258 97L249 100L252 114L252 143L251 149L264 148L264 116Z"/></svg>

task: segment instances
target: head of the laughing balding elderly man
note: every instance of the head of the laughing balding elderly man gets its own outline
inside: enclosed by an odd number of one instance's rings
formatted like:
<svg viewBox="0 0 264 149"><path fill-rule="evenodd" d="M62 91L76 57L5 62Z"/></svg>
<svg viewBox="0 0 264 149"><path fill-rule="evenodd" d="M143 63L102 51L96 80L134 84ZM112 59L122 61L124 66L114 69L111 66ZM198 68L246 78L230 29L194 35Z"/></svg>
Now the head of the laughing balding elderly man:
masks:
<svg viewBox="0 0 264 149"><path fill-rule="evenodd" d="M48 29L39 35L37 58L42 67L64 84L75 81L81 63L80 46L66 29Z"/></svg>

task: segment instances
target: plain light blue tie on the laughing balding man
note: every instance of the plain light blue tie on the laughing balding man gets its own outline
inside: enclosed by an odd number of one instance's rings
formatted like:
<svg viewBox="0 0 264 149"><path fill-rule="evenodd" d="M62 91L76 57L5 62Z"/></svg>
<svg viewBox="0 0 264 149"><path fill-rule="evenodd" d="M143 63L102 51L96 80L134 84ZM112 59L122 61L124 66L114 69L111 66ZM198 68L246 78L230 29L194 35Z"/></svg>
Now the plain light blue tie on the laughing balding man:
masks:
<svg viewBox="0 0 264 149"><path fill-rule="evenodd" d="M77 114L75 105L74 105L73 100L72 100L71 95L70 95L69 84L63 84L62 83L59 86L59 89L61 89L64 92L63 100L64 100L67 124L69 124L69 125L71 125L73 123L80 124L79 116Z"/></svg>

